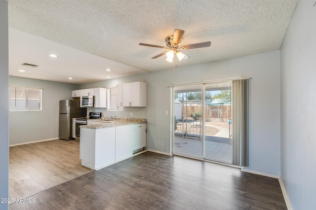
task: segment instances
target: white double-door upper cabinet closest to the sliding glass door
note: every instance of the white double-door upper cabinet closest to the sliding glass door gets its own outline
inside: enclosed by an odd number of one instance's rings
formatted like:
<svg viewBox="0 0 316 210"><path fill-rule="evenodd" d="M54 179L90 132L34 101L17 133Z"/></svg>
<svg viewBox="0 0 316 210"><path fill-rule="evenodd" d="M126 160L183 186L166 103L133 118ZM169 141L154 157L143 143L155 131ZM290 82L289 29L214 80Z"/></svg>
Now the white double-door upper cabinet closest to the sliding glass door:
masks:
<svg viewBox="0 0 316 210"><path fill-rule="evenodd" d="M145 107L147 100L145 82L131 82L122 84L122 105Z"/></svg>

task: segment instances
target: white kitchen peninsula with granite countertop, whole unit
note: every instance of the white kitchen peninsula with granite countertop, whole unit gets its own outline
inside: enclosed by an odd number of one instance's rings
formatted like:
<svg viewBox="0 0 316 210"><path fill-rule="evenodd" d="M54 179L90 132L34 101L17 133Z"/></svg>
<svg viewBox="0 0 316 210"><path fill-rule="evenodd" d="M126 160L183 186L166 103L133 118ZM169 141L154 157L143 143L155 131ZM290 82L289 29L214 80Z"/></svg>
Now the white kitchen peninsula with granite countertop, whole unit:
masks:
<svg viewBox="0 0 316 210"><path fill-rule="evenodd" d="M80 126L81 165L100 170L146 147L146 119L87 120Z"/></svg>

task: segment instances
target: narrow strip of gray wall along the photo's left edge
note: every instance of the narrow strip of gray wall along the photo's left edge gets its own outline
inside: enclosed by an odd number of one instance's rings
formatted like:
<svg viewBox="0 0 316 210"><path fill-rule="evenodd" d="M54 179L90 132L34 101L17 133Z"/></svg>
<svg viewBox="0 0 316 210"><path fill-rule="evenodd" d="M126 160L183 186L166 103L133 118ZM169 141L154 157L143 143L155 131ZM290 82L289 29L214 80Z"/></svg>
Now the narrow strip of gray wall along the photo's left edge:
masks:
<svg viewBox="0 0 316 210"><path fill-rule="evenodd" d="M9 75L8 75L8 4L0 0L0 198L8 198L9 183ZM0 209L8 209L0 203Z"/></svg>

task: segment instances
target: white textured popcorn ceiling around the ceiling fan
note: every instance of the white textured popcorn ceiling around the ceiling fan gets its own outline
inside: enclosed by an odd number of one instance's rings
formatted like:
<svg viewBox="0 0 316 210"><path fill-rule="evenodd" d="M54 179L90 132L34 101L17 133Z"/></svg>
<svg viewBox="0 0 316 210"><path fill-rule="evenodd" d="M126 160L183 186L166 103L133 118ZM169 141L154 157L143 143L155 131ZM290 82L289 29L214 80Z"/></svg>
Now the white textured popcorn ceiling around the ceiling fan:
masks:
<svg viewBox="0 0 316 210"><path fill-rule="evenodd" d="M178 66L280 48L297 0L8 0L9 27L142 71L171 69L160 48L174 29L184 52Z"/></svg>

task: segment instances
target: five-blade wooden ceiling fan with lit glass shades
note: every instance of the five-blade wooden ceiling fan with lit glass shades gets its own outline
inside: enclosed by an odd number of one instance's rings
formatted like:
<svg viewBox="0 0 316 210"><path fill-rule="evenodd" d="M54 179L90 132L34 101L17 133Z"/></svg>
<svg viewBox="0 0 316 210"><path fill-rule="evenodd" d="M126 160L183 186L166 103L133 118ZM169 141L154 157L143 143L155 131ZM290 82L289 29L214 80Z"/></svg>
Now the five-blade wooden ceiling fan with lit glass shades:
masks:
<svg viewBox="0 0 316 210"><path fill-rule="evenodd" d="M179 61L181 61L182 59L186 60L186 59L190 58L187 54L185 54L181 50L189 50L189 49L211 46L210 41L181 46L183 34L184 34L184 31L181 29L174 30L173 35L169 35L165 38L166 45L167 45L166 47L153 45L153 44L144 44L144 43L139 43L139 45L148 46L148 47L158 47L158 48L162 48L162 49L169 49L168 51L165 51L163 53L160 53L159 55L154 56L152 59L159 58L160 56L163 56L166 54L166 56L167 56L166 61L168 61L170 63L173 62L174 55L177 56Z"/></svg>

